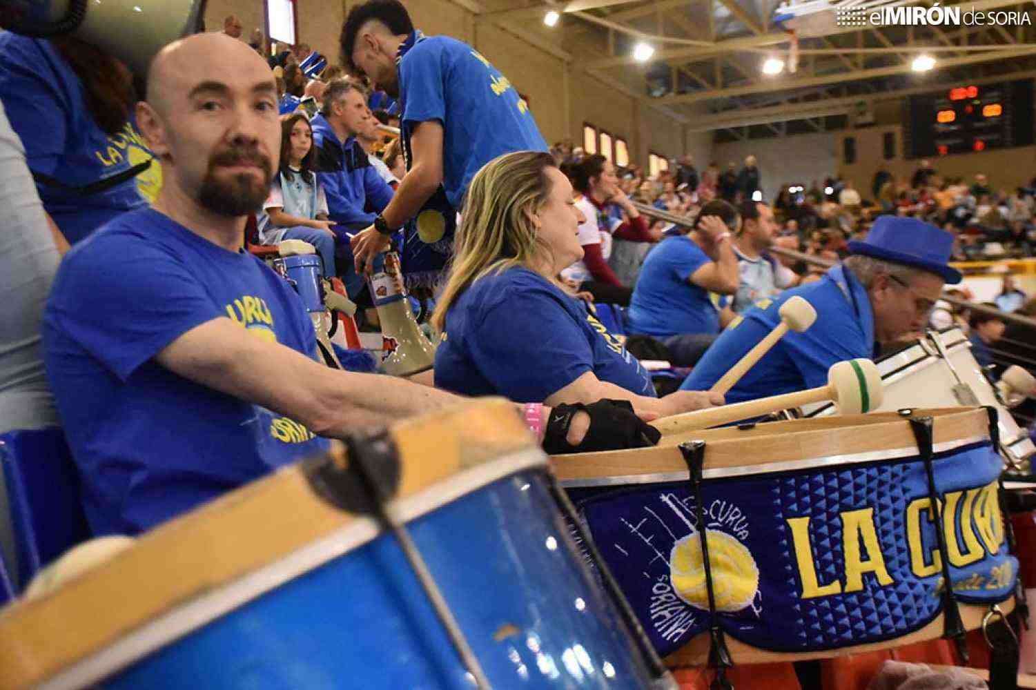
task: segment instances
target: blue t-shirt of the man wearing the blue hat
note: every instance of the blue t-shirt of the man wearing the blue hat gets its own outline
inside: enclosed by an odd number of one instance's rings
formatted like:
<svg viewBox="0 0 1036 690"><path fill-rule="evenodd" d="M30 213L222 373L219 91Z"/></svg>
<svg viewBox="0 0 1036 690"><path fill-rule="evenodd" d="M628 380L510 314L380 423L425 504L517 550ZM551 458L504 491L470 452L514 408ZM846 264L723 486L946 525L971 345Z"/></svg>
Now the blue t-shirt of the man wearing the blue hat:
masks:
<svg viewBox="0 0 1036 690"><path fill-rule="evenodd" d="M828 382L836 362L874 356L874 317L867 291L856 277L835 266L816 283L764 299L730 322L684 380L685 391L707 391L780 322L778 310L794 295L816 310L805 333L789 330L726 394L726 402L755 400Z"/></svg>

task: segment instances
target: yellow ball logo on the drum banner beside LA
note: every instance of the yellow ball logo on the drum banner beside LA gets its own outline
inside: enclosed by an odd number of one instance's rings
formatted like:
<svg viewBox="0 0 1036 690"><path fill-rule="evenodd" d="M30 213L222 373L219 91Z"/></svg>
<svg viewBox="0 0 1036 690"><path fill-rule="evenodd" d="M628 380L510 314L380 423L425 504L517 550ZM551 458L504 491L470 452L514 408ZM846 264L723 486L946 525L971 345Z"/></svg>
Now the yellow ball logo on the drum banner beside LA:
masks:
<svg viewBox="0 0 1036 690"><path fill-rule="evenodd" d="M759 569L744 544L726 533L706 529L709 564L712 566L716 609L740 611L752 603L759 588ZM701 560L701 538L697 533L672 545L669 554L669 578L677 596L685 602L709 610L706 569Z"/></svg>

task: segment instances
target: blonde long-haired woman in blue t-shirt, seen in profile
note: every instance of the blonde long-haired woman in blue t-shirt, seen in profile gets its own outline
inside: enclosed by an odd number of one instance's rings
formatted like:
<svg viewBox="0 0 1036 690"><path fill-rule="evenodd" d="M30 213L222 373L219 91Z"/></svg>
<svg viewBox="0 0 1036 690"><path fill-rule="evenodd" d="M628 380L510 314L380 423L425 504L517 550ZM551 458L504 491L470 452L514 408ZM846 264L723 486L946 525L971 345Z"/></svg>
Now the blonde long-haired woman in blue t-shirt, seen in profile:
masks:
<svg viewBox="0 0 1036 690"><path fill-rule="evenodd" d="M549 153L490 161L467 191L463 226L432 322L442 334L435 385L524 403L625 400L644 419L722 404L684 392L658 399L622 343L556 283L582 257L583 221Z"/></svg>

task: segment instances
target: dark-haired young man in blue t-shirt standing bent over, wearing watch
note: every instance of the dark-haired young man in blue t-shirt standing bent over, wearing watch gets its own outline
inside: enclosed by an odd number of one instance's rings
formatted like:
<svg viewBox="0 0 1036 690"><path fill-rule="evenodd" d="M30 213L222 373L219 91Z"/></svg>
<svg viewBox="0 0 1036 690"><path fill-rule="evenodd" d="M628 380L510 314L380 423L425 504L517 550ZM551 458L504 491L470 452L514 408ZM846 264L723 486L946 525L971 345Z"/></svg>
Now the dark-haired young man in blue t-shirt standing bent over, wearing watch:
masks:
<svg viewBox="0 0 1036 690"><path fill-rule="evenodd" d="M374 224L352 241L356 269L370 270L390 238L406 233L404 271L434 283L450 257L456 211L486 163L511 151L546 151L528 105L478 51L449 36L413 28L399 0L353 7L342 29L342 58L355 74L402 104L407 173ZM440 189L441 188L441 189Z"/></svg>

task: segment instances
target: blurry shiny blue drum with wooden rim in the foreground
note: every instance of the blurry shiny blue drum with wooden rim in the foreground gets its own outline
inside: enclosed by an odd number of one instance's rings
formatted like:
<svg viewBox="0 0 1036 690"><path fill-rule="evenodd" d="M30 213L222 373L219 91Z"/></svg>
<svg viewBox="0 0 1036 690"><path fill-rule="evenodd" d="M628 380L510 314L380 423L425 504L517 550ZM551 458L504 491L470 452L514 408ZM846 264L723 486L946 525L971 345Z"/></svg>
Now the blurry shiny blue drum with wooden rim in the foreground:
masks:
<svg viewBox="0 0 1036 690"><path fill-rule="evenodd" d="M652 685L513 405L467 405L393 439L392 510L492 687ZM337 507L321 497L334 481L315 478L347 466L344 449L322 463L232 492L0 613L0 687L472 688L400 543L350 512L358 485L342 483Z"/></svg>

